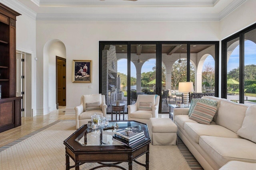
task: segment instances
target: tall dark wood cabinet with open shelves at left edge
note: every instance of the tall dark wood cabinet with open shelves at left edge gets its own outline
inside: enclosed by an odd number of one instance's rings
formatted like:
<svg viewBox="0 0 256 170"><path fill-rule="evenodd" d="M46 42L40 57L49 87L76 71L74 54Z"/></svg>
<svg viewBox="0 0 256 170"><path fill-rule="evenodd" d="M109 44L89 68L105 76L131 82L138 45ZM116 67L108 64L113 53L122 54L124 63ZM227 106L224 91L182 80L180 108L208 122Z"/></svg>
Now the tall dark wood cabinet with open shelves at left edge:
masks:
<svg viewBox="0 0 256 170"><path fill-rule="evenodd" d="M21 125L21 100L16 97L16 16L0 3L0 132Z"/></svg>

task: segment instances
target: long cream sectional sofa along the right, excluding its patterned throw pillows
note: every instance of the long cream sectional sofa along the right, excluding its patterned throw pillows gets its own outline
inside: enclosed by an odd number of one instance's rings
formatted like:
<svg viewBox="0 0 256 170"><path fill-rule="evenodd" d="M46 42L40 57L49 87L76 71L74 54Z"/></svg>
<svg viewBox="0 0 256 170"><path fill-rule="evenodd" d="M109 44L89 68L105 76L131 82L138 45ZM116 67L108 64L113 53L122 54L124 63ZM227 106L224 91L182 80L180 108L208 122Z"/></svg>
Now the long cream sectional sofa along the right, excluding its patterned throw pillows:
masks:
<svg viewBox="0 0 256 170"><path fill-rule="evenodd" d="M256 163L256 106L213 96L203 98L217 101L210 125L189 119L188 108L174 109L177 134L201 166L218 170L232 160Z"/></svg>

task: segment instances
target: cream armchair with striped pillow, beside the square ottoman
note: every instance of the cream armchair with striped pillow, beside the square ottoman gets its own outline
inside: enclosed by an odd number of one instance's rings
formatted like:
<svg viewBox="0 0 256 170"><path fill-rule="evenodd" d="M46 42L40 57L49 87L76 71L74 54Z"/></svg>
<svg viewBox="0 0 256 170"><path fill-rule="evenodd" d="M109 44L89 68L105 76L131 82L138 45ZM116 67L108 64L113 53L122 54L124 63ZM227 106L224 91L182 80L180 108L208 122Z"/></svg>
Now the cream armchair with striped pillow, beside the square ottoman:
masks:
<svg viewBox="0 0 256 170"><path fill-rule="evenodd" d="M128 105L128 120L149 123L151 117L158 117L160 96L148 94L138 95L134 105Z"/></svg>

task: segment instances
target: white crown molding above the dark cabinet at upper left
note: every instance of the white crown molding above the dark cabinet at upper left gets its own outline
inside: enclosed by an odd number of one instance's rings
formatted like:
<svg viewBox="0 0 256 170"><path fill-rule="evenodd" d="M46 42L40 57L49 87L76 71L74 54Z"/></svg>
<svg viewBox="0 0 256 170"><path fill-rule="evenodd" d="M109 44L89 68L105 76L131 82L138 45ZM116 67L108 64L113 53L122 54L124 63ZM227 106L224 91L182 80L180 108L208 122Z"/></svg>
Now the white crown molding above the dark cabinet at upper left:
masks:
<svg viewBox="0 0 256 170"><path fill-rule="evenodd" d="M36 12L30 10L30 8L24 6L22 3L16 1L16 0L2 0L2 4L8 6L9 8L12 8L16 12L27 15L33 20L36 20Z"/></svg>

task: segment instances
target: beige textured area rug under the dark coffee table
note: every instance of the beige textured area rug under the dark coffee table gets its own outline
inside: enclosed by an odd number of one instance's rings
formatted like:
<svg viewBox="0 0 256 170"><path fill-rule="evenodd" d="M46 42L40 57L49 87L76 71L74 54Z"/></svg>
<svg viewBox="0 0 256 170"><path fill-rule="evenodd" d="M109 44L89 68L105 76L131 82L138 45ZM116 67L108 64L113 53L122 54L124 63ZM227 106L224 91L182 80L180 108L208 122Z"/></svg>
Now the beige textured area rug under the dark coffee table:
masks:
<svg viewBox="0 0 256 170"><path fill-rule="evenodd" d="M63 120L44 130L17 140L13 146L0 150L0 170L64 170L65 147L63 141L76 131L74 120ZM145 163L146 155L137 160ZM74 165L70 159L70 165ZM99 164L86 163L80 170L87 170ZM128 169L128 162L119 164ZM73 168L74 169L74 168ZM117 170L106 167L99 170ZM134 162L134 170L145 170L145 167ZM190 170L186 160L177 146L150 145L150 170Z"/></svg>

